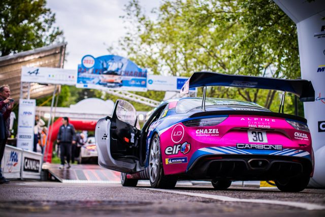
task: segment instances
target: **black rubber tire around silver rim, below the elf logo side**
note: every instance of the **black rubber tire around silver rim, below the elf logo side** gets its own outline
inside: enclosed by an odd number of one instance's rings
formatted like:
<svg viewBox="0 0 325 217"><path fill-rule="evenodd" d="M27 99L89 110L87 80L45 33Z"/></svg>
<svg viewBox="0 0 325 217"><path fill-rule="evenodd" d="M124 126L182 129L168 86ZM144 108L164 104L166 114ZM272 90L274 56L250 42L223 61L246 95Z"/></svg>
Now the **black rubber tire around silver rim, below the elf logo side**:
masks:
<svg viewBox="0 0 325 217"><path fill-rule="evenodd" d="M154 142L157 142L157 148L158 148L158 165L157 165L157 175L155 178L153 178L153 171L151 169L152 163L150 162L150 154L151 154L151 148ZM160 151L160 140L157 134L155 134L152 137L151 143L150 143L150 151L149 151L149 180L150 185L152 188L155 189L173 189L175 188L176 182L177 182L177 176L172 175L165 175L164 173L164 167L163 167L163 161L161 159L161 151Z"/></svg>

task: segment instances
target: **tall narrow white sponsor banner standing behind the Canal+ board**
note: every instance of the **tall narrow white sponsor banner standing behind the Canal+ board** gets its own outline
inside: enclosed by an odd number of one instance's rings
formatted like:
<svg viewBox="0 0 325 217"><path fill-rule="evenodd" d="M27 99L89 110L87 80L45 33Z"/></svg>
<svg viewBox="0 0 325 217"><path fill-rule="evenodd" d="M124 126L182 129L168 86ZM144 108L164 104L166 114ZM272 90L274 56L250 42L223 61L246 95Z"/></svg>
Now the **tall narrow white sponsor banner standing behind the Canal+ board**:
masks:
<svg viewBox="0 0 325 217"><path fill-rule="evenodd" d="M19 100L17 147L32 150L34 143L35 100Z"/></svg>

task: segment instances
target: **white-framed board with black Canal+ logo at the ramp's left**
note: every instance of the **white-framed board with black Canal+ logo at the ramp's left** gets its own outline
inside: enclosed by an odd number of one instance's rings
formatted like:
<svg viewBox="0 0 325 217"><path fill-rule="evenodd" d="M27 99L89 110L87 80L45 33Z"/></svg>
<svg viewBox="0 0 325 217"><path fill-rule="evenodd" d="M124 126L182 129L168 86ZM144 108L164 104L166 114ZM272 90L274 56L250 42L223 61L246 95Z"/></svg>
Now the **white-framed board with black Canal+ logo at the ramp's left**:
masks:
<svg viewBox="0 0 325 217"><path fill-rule="evenodd" d="M21 178L41 178L42 154L32 151L23 151Z"/></svg>

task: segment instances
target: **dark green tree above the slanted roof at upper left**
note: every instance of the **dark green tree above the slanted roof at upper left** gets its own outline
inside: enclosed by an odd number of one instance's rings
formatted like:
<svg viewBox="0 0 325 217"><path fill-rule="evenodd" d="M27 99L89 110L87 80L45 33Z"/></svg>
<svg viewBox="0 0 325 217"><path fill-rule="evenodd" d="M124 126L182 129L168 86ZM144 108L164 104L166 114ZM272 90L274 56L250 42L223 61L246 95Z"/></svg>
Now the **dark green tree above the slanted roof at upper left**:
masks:
<svg viewBox="0 0 325 217"><path fill-rule="evenodd" d="M5 56L63 40L46 0L0 1L0 55Z"/></svg>

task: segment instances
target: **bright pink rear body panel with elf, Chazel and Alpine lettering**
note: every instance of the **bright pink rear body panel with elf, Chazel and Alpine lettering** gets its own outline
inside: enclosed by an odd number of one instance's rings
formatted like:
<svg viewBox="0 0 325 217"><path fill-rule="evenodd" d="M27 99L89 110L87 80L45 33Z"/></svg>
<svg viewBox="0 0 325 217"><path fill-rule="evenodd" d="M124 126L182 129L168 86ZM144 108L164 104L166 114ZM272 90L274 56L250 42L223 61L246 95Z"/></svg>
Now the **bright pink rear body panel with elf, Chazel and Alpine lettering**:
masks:
<svg viewBox="0 0 325 217"><path fill-rule="evenodd" d="M266 131L268 143L249 142L247 130L255 128L270 129ZM187 146L186 151L182 152L180 146L185 142L190 144L190 149L188 151ZM282 145L283 149L296 149L312 154L310 133L294 129L284 118L229 115L217 126L185 127L182 123L177 123L160 132L165 174L185 173L192 154L200 148L211 146L236 148L237 143ZM258 154L264 154L263 150Z"/></svg>

